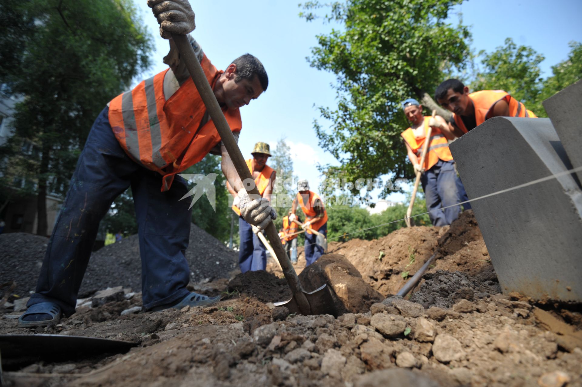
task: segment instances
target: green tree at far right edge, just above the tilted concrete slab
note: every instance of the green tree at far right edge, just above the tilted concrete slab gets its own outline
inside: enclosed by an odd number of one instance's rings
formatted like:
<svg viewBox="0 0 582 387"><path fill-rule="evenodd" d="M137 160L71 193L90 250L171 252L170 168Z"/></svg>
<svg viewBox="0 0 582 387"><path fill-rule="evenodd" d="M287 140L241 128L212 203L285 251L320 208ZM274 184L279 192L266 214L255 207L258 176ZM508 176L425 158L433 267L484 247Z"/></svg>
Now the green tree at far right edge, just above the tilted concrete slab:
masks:
<svg viewBox="0 0 582 387"><path fill-rule="evenodd" d="M570 42L568 58L552 66L552 76L544 80L540 100L544 101L558 91L582 79L582 43Z"/></svg>

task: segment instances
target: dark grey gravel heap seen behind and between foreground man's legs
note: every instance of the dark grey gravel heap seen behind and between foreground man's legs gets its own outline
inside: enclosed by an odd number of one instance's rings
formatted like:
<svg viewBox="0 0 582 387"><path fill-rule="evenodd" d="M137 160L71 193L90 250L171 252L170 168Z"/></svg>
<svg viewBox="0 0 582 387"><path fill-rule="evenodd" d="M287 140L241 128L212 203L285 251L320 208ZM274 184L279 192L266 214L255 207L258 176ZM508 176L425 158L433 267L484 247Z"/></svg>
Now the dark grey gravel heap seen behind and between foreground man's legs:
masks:
<svg viewBox="0 0 582 387"><path fill-rule="evenodd" d="M16 282L12 293L28 296L36 287L48 238L27 234L0 235L0 285ZM186 250L190 282L230 278L238 269L238 255L198 226L190 228ZM137 235L105 246L91 255L79 296L85 297L105 287L123 286L141 290L141 260ZM4 289L0 289L2 294ZM1 296L0 296L1 297Z"/></svg>

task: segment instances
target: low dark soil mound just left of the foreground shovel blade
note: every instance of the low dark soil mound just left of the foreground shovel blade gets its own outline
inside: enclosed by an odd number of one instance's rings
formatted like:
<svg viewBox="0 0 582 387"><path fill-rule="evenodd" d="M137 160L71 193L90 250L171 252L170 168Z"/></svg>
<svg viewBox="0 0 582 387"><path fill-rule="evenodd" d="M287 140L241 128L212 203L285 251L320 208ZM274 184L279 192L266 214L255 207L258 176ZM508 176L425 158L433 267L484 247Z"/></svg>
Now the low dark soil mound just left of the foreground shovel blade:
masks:
<svg viewBox="0 0 582 387"><path fill-rule="evenodd" d="M284 278L260 270L237 274L228 284L228 292L239 292L257 297L264 303L286 301L291 298L291 290Z"/></svg>

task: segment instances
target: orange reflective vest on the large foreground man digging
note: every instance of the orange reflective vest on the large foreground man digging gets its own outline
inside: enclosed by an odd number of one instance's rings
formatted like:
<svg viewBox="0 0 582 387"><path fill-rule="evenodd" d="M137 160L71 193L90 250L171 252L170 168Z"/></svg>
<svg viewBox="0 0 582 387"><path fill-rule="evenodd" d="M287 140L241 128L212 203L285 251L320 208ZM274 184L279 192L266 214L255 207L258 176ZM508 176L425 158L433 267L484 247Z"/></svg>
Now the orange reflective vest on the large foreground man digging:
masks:
<svg viewBox="0 0 582 387"><path fill-rule="evenodd" d="M214 88L223 72L206 55L200 65ZM109 102L109 124L119 144L138 164L163 176L162 191L170 189L176 173L196 164L221 141L212 120L200 127L206 106L191 78L166 100L164 76L169 70ZM222 112L230 130L242 129L239 109L225 107Z"/></svg>

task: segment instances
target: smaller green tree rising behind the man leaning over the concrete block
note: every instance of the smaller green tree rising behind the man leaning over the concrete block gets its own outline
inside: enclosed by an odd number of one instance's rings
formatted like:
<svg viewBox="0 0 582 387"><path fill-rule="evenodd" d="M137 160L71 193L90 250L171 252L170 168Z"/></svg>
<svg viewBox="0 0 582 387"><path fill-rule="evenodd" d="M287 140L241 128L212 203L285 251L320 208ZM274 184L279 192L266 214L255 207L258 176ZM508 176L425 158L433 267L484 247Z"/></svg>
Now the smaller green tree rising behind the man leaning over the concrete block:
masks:
<svg viewBox="0 0 582 387"><path fill-rule="evenodd" d="M477 79L471 84L472 90L505 90L538 117L546 117L540 98L543 55L531 47L516 45L511 38L494 52L486 54L481 51L479 55L483 56L484 69L477 73Z"/></svg>

